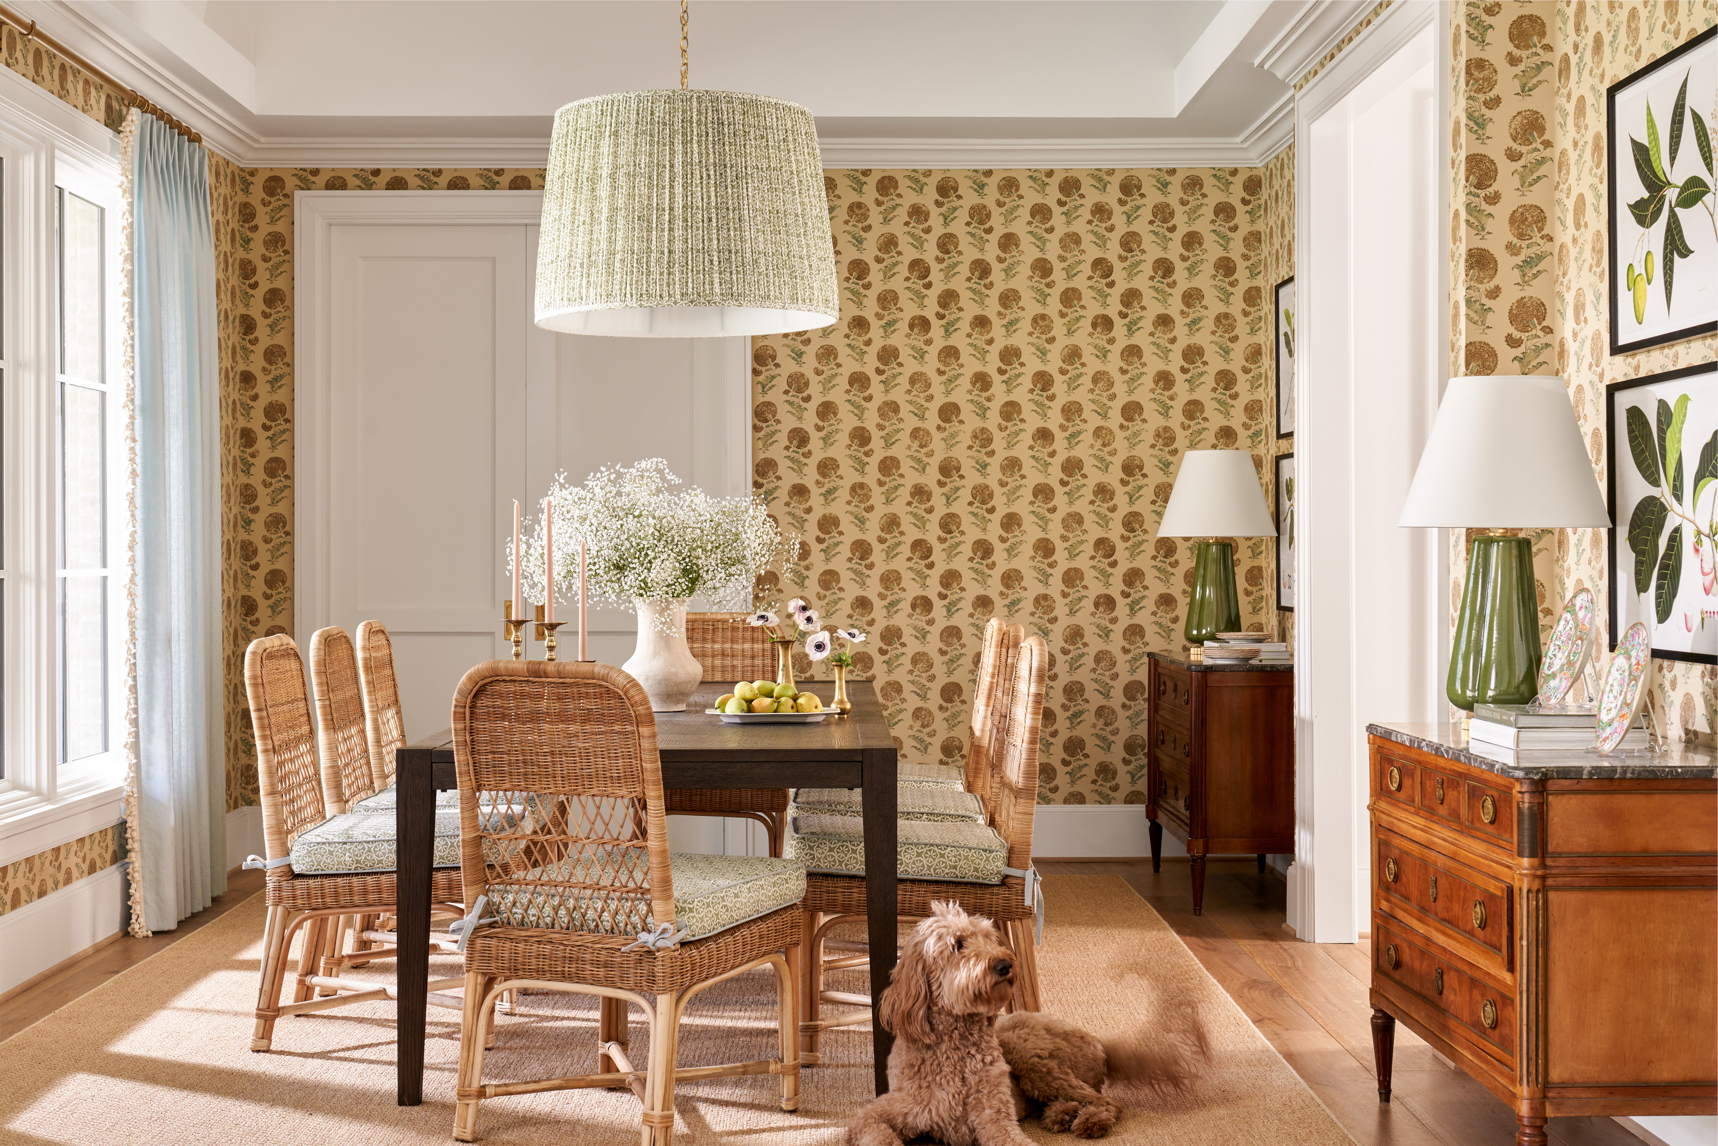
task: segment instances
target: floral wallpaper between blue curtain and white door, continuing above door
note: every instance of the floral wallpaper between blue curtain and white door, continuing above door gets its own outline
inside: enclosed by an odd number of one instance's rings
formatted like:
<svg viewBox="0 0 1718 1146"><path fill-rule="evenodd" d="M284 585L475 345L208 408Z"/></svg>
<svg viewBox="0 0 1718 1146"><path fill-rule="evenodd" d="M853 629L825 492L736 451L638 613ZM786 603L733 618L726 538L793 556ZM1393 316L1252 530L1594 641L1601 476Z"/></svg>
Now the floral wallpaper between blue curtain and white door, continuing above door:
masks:
<svg viewBox="0 0 1718 1146"><path fill-rule="evenodd" d="M227 806L256 804L244 649L294 632L292 194L295 191L533 191L543 170L241 168L210 156L222 363L222 584ZM308 634L304 634L308 636Z"/></svg>

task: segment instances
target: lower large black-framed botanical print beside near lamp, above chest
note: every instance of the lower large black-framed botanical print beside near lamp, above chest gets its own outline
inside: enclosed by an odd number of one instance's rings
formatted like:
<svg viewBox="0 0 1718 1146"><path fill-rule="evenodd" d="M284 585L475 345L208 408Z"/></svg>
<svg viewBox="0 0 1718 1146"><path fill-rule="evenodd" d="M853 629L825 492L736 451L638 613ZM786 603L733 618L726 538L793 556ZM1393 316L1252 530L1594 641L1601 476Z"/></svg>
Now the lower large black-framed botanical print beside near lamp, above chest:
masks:
<svg viewBox="0 0 1718 1146"><path fill-rule="evenodd" d="M1718 665L1718 363L1605 388L1610 631Z"/></svg>

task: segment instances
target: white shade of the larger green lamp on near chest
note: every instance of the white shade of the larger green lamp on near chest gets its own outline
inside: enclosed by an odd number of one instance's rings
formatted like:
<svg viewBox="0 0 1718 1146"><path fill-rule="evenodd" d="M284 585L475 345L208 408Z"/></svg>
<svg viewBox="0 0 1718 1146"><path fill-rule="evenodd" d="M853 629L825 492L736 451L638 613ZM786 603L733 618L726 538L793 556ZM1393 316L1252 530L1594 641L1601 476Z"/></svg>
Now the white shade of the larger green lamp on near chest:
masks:
<svg viewBox="0 0 1718 1146"><path fill-rule="evenodd" d="M1402 526L1610 526L1562 378L1452 378L1419 455Z"/></svg>

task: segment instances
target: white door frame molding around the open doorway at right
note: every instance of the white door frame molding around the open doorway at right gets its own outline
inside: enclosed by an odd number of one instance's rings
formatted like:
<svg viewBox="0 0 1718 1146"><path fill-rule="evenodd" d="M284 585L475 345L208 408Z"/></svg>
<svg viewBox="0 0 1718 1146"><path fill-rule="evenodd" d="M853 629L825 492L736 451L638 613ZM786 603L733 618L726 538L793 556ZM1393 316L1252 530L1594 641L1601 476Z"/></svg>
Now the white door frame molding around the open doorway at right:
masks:
<svg viewBox="0 0 1718 1146"><path fill-rule="evenodd" d="M1352 943L1356 933L1366 930L1371 914L1369 887L1369 845L1364 833L1364 808L1368 799L1366 783L1366 741L1364 723L1368 720L1388 720L1395 713L1356 711L1354 674L1364 665L1361 653L1364 632L1356 631L1354 619L1338 608L1335 615L1325 617L1319 608L1319 596L1326 601L1338 601L1352 594L1347 586L1356 577L1356 553L1352 527L1343 538L1340 552L1318 552L1316 536L1323 527L1325 536L1331 529L1342 529L1342 522L1321 526L1319 509L1342 503L1352 521L1354 483L1352 472L1352 431L1343 430L1333 435L1319 435L1314 416L1319 400L1330 400L1331 385L1347 385L1347 378L1331 381L1321 378L1314 383L1313 359L1319 345L1318 311L1330 309L1326 301L1319 308L1314 301L1319 294L1319 273L1313 265L1313 153L1314 131L1328 131L1330 120L1325 117L1337 112L1359 86L1371 79L1381 67L1405 48L1417 36L1433 33L1433 91L1436 107L1433 110L1433 134L1448 131L1448 84L1441 79L1450 65L1450 29L1443 19L1443 5L1433 3L1395 3L1385 9L1361 36L1314 76L1295 100L1295 283L1301 302L1299 338L1302 352L1295 356L1295 409L1301 411L1301 424L1295 430L1297 448L1297 514L1301 517L1301 536L1297 548L1295 584L1302 586L1297 601L1295 629L1295 863L1288 871L1288 926L1295 935L1316 943ZM1441 151L1438 153L1441 155ZM1433 170L1438 170L1435 165ZM1441 234L1443 220L1450 216L1450 186L1447 179L1435 179L1436 196L1433 199L1435 234ZM1352 186L1343 184L1342 196L1352 194ZM1342 198L1338 196L1338 198ZM1343 199L1347 201L1347 199ZM1328 203L1326 203L1328 206ZM1436 242L1435 242L1436 251ZM1431 294L1429 354L1433 357L1429 378L1431 393L1419 395L1428 402L1426 424L1436 411L1443 393L1445 344L1447 332L1440 333L1438 323L1447 318L1448 299L1448 259L1433 258L1438 283ZM1328 273L1328 268L1325 268ZM1352 268L1350 268L1352 271ZM1347 275L1354 282L1354 275ZM1345 283L1331 283L1325 296L1345 292ZM1343 297L1347 297L1343 294ZM1347 306L1337 302L1335 306ZM1352 351L1347 330L1325 332L1325 338L1335 337L1343 344L1343 351ZM1321 438L1328 443L1318 445ZM1318 448L1314 448L1318 445ZM1319 488L1325 490L1318 497ZM1448 624L1440 620L1440 601L1447 601L1448 553L1447 546L1433 545L1428 569L1423 570L1431 581L1429 608L1433 612L1429 632L1435 634L1433 648L1404 649L1404 655L1429 661L1426 674L1435 684L1441 682L1441 665L1448 663ZM1318 564L1314 567L1314 557ZM1335 584L1333 584L1335 582ZM1313 586L1323 586L1325 593L1314 593ZM1441 691L1438 691L1441 696ZM1441 711L1441 708L1433 708ZM1314 720L1323 716L1325 730L1314 735Z"/></svg>

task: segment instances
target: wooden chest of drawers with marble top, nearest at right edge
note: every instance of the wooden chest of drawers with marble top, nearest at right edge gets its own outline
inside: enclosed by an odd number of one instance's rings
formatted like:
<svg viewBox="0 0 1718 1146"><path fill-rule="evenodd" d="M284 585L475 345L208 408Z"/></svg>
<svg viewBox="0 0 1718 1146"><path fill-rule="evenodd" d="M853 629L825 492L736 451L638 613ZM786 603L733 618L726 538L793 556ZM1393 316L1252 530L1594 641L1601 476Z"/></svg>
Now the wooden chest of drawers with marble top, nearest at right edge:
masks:
<svg viewBox="0 0 1718 1146"><path fill-rule="evenodd" d="M1718 1110L1713 753L1368 734L1378 1098L1400 1021L1515 1110L1519 1146L1550 1117Z"/></svg>

